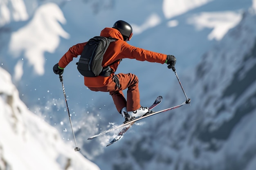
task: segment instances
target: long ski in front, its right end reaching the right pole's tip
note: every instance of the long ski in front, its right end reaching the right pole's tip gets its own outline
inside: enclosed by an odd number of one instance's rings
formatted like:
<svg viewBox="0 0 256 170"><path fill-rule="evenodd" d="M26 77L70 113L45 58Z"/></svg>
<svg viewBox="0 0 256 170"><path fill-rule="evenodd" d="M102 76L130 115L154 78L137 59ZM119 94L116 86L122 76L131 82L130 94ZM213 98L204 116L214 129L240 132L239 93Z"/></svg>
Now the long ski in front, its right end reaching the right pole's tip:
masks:
<svg viewBox="0 0 256 170"><path fill-rule="evenodd" d="M173 106L173 107L171 107L171 108L166 108L166 109L164 109L164 110L160 110L160 111L157 111L157 112L151 111L151 112L148 113L147 115L144 115L144 116L139 117L139 118L132 119L131 121L128 121L128 122L126 122L126 123L124 123L124 124L121 124L121 125L119 125L119 126L116 126L115 128L112 128L112 129L110 129L110 130L106 130L105 132L101 132L101 133L98 134L98 135L94 135L94 136L92 136L92 137L89 137L88 140L95 139L96 137L99 137L99 136L104 135L104 134L106 134L106 133L108 133L108 132L111 132L112 130L116 130L116 129L121 128L121 127L124 127L124 126L126 126L126 125L128 125L128 124L132 124L133 122L136 122L136 121L138 121L138 120L144 119L144 118L146 118L146 117L150 117L150 116L156 115L156 114L158 114L158 113L162 113L162 112L166 112L166 111L168 111L168 110L173 110L173 109L175 109L175 108L179 108L179 107L183 106L184 104L188 104L188 102L185 101L185 102L183 102L183 103L180 104L180 105Z"/></svg>

